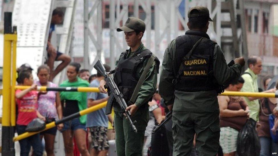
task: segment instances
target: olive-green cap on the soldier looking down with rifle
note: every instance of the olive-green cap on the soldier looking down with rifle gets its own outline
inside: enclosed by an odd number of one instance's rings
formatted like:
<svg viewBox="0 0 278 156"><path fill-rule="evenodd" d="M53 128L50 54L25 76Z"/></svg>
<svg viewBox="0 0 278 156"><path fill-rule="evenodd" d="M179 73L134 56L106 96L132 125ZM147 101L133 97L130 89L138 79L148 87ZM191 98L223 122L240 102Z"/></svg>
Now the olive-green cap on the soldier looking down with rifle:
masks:
<svg viewBox="0 0 278 156"><path fill-rule="evenodd" d="M146 24L143 20L135 17L128 17L124 26L117 28L117 31L132 32L138 30L140 32L145 32Z"/></svg>

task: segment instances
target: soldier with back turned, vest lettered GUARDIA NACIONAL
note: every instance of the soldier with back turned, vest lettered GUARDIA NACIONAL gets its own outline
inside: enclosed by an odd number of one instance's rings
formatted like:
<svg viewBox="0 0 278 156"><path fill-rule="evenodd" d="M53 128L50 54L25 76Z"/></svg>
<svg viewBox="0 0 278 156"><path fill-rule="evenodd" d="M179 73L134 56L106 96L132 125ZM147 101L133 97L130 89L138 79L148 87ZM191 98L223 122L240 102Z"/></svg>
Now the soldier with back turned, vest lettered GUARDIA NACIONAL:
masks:
<svg viewBox="0 0 278 156"><path fill-rule="evenodd" d="M220 85L240 76L244 58L227 66L220 47L207 35L209 10L188 12L189 30L168 45L160 76L159 92L173 110L173 155L190 155L194 134L199 155L216 155L220 125L217 95Z"/></svg>

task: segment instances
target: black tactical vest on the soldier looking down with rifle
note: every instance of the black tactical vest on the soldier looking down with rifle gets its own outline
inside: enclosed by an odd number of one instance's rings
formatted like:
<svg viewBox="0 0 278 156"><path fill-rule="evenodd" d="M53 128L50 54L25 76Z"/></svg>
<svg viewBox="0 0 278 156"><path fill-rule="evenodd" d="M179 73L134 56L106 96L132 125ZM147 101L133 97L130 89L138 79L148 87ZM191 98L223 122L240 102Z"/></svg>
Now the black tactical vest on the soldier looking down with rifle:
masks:
<svg viewBox="0 0 278 156"><path fill-rule="evenodd" d="M126 58L128 51L121 53L117 67L114 73L115 82L123 94L124 99L128 102L138 83L139 78L136 78L138 65L142 64L145 59L151 57L152 52L149 49L135 53L132 57ZM159 60L156 57L156 69L159 68Z"/></svg>

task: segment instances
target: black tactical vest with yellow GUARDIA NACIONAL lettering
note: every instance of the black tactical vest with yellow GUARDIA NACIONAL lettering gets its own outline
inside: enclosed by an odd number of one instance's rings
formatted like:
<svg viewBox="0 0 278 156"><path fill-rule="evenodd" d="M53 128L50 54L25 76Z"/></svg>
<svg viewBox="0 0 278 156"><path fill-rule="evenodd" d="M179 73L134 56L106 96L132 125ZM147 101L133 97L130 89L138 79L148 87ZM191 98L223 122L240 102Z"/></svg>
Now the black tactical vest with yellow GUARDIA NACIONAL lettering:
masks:
<svg viewBox="0 0 278 156"><path fill-rule="evenodd" d="M213 76L213 51L216 44L214 41L203 37L191 56L185 57L200 38L202 36L194 33L186 33L176 38L176 53L173 56L176 90L194 92L219 88Z"/></svg>

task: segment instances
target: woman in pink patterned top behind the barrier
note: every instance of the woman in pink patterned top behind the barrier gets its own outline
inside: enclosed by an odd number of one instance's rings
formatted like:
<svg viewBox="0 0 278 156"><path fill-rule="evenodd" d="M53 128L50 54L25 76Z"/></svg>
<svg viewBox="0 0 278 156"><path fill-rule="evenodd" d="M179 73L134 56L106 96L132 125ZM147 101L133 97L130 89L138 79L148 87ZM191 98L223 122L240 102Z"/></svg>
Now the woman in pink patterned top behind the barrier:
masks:
<svg viewBox="0 0 278 156"><path fill-rule="evenodd" d="M36 82L38 86L57 87L56 84L49 82L50 69L47 65L41 65L38 67L37 72L39 81ZM48 122L55 121L56 119L62 119L62 106L60 101L60 94L57 91L40 92L38 95L38 111ZM40 138L44 137L45 150L48 156L54 156L54 141L58 130L63 128L63 124L59 124L57 127L40 133Z"/></svg>

